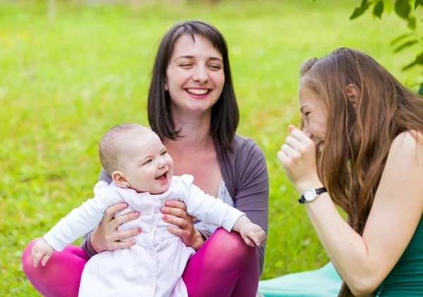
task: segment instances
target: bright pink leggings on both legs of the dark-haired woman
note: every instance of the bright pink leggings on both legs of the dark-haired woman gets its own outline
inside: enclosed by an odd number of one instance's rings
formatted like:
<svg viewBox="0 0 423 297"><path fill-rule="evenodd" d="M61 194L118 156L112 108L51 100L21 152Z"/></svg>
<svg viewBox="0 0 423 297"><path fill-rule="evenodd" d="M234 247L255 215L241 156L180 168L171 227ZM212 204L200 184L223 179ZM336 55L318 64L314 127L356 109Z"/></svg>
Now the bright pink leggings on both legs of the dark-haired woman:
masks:
<svg viewBox="0 0 423 297"><path fill-rule="evenodd" d="M77 297L87 255L69 245L54 252L45 267L34 267L31 248L40 239L23 251L23 272L42 296ZM254 297L259 283L257 248L247 246L238 233L218 228L192 256L182 278L190 297Z"/></svg>

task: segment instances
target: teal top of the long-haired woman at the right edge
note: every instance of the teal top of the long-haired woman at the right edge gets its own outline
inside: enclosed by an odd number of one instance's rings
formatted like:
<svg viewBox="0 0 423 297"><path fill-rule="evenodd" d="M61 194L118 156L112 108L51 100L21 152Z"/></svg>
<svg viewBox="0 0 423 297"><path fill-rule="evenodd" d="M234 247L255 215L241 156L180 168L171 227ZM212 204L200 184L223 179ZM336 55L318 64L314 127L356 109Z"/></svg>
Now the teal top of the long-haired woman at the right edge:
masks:
<svg viewBox="0 0 423 297"><path fill-rule="evenodd" d="M400 260L382 282L379 296L423 296L423 217Z"/></svg>

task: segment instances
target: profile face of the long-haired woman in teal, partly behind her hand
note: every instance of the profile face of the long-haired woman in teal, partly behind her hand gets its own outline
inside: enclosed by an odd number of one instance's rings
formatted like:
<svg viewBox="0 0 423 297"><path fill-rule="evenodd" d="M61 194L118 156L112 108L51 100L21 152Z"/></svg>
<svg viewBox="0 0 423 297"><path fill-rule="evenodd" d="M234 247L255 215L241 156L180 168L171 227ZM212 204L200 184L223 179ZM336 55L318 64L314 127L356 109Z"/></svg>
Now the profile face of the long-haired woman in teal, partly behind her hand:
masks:
<svg viewBox="0 0 423 297"><path fill-rule="evenodd" d="M302 120L304 121L302 131L309 133L316 148L321 150L328 127L328 111L324 106L323 99L302 82L300 82L298 88L298 97Z"/></svg>

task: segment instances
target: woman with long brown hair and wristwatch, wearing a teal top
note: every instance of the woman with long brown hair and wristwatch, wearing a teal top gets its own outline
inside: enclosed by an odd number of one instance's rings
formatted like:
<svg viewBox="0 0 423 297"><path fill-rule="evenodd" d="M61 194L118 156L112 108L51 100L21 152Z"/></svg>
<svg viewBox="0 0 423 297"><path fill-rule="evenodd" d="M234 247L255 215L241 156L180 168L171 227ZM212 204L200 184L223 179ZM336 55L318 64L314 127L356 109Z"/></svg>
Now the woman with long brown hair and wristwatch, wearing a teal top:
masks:
<svg viewBox="0 0 423 297"><path fill-rule="evenodd" d="M343 279L338 296L423 296L422 98L348 48L300 77L302 130L289 126L278 158Z"/></svg>

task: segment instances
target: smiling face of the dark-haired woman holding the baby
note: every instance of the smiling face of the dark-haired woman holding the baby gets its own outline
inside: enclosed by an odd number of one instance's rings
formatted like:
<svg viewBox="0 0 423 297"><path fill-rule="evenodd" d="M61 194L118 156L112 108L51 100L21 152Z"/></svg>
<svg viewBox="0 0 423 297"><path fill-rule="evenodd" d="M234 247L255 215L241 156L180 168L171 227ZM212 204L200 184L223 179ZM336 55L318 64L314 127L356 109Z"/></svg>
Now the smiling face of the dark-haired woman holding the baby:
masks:
<svg viewBox="0 0 423 297"><path fill-rule="evenodd" d="M182 35L175 42L166 70L165 90L172 111L204 114L211 111L225 83L223 59L212 42L201 35Z"/></svg>

